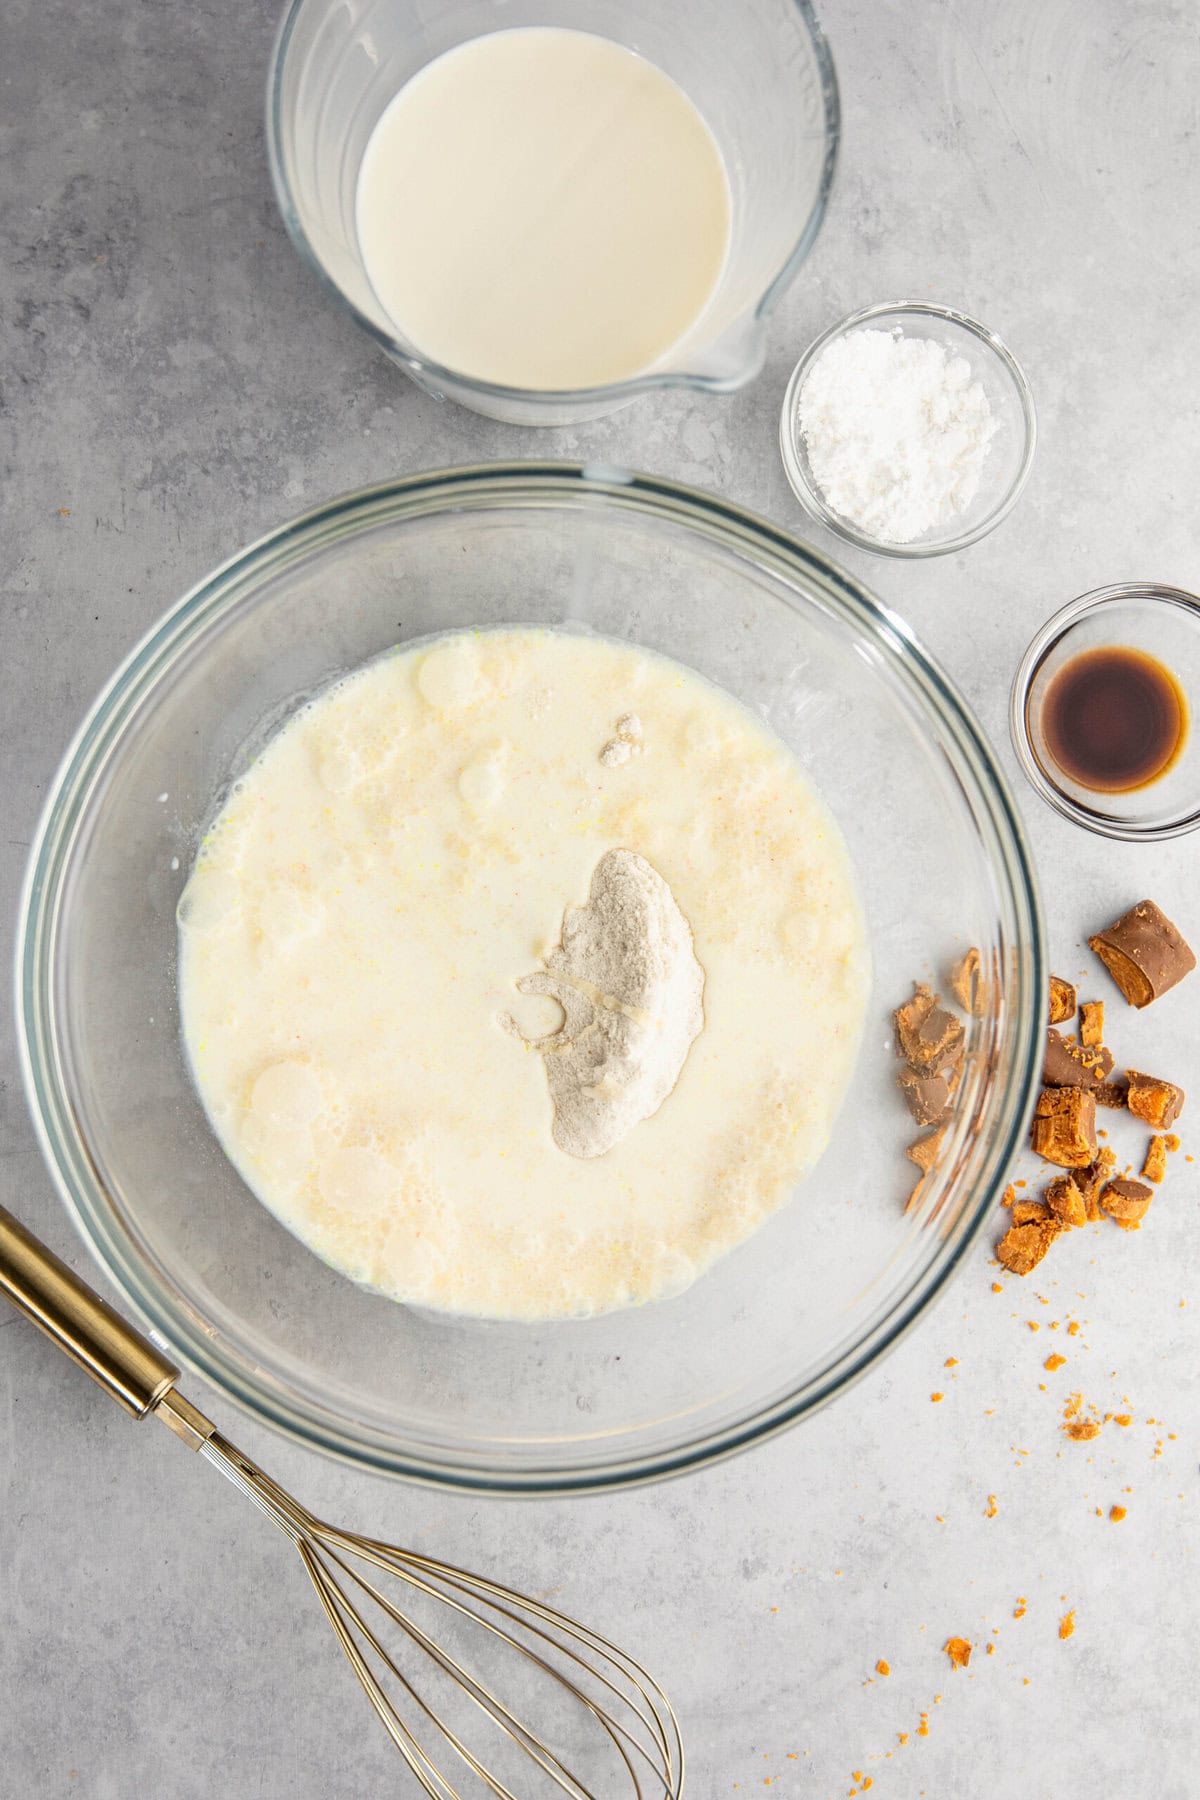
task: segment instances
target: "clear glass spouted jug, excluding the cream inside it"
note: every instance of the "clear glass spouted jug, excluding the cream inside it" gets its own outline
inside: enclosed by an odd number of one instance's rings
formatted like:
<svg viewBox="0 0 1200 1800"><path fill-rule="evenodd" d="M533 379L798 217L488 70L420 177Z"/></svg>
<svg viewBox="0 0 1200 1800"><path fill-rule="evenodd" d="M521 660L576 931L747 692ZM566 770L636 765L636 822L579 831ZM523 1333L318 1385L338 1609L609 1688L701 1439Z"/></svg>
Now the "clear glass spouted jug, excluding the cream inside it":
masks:
<svg viewBox="0 0 1200 1800"><path fill-rule="evenodd" d="M707 119L725 158L732 239L696 329L664 365L570 392L497 387L405 342L367 279L354 193L389 101L443 50L488 31L569 25L664 68ZM766 320L824 218L838 142L833 63L810 0L291 0L272 56L266 144L297 250L392 362L437 398L515 425L570 425L658 387L730 392L766 355Z"/></svg>

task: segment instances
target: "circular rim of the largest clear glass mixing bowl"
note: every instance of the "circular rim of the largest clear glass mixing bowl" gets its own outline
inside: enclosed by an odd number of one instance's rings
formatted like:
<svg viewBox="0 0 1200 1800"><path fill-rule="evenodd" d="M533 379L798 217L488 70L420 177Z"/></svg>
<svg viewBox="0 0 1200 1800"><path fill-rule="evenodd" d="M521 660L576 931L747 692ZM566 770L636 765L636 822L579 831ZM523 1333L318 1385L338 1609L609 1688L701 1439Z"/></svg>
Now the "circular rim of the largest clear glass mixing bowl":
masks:
<svg viewBox="0 0 1200 1800"><path fill-rule="evenodd" d="M338 538L380 524L435 513L558 506L604 506L658 518L738 553L783 583L799 578L844 623L876 643L910 693L937 718L961 767L975 781L981 828L990 837L1002 931L1011 934L1015 976L1015 1051L1006 1087L997 1093L991 1154L977 1174L979 1192L952 1233L939 1238L903 1300L874 1319L865 1336L833 1357L828 1368L786 1395L772 1397L747 1417L669 1449L637 1451L608 1463L574 1465L569 1456L515 1469L498 1456L475 1467L452 1451L398 1445L363 1420L347 1420L324 1399L284 1391L272 1375L246 1366L239 1346L205 1327L169 1269L135 1242L99 1183L72 1116L61 1080L54 999L58 914L63 871L90 805L94 785L119 749L142 698L171 671L189 643L245 596L246 581L286 562L326 549ZM786 596L781 596L784 603ZM651 475L579 463L507 463L437 470L365 488L300 515L232 556L142 637L83 720L54 779L31 850L16 943L18 1042L22 1073L47 1166L76 1226L97 1262L182 1363L210 1381L259 1422L322 1449L354 1467L403 1476L435 1487L491 1494L569 1494L631 1487L730 1456L815 1411L865 1373L925 1312L959 1267L999 1195L1033 1109L1042 1064L1045 952L1042 909L1020 817L1000 769L977 724L939 666L910 628L882 607L842 569L754 513L729 500Z"/></svg>

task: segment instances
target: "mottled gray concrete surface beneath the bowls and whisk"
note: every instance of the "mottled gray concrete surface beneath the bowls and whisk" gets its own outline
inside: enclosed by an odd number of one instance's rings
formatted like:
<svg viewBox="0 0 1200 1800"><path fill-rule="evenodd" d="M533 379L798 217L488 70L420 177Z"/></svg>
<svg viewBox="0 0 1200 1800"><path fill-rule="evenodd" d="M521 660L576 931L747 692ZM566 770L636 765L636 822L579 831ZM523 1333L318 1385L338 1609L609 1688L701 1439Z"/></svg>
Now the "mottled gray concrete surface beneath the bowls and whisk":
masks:
<svg viewBox="0 0 1200 1800"><path fill-rule="evenodd" d="M0 20L5 931L81 709L214 562L363 481L547 452L678 475L804 529L775 454L786 374L876 299L979 313L1036 391L1033 482L988 542L921 567L838 553L945 659L1009 769L1006 686L1049 610L1110 580L1200 589L1189 0L831 0L842 169L766 371L725 401L673 396L542 437L421 396L300 268L263 160L272 11L9 0ZM1142 893L1200 938L1200 841L1133 851L1024 805L1058 965L1079 967L1083 932ZM1135 1026L1126 1044L1196 1080L1196 990ZM83 1265L7 1021L0 1057L0 1192ZM664 1489L455 1499L237 1431L326 1514L556 1593L635 1645L678 1703L696 1800L768 1782L772 1800L831 1800L855 1771L873 1800L1186 1800L1196 1166L1177 1159L1137 1237L1079 1235L1018 1294L991 1292L982 1247L855 1393ZM1069 1316L1087 1321L1070 1339ZM407 1791L275 1534L14 1316L0 1334L0 1795ZM1042 1370L1052 1348L1070 1355L1060 1375ZM1070 1388L1132 1424L1067 1442ZM977 1643L968 1672L950 1670L948 1634Z"/></svg>

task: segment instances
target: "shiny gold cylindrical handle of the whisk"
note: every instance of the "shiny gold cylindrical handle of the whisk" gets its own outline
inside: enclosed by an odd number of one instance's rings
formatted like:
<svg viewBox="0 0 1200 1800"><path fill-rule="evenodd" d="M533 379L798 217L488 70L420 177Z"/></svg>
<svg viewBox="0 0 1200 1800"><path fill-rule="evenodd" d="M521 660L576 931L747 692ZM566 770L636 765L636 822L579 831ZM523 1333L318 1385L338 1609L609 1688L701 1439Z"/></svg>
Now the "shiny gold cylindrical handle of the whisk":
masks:
<svg viewBox="0 0 1200 1800"><path fill-rule="evenodd" d="M148 1337L0 1206L0 1294L47 1334L92 1381L144 1418L180 1372Z"/></svg>

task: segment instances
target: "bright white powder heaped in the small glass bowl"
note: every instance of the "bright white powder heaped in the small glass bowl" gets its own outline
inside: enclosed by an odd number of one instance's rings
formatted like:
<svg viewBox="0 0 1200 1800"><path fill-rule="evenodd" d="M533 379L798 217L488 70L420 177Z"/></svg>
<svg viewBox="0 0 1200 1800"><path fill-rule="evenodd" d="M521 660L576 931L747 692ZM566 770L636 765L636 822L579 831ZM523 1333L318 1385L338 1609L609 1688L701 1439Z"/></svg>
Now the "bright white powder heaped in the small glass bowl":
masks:
<svg viewBox="0 0 1200 1800"><path fill-rule="evenodd" d="M826 504L887 544L912 544L966 511L999 430L966 358L900 329L826 346L801 387L797 425Z"/></svg>

